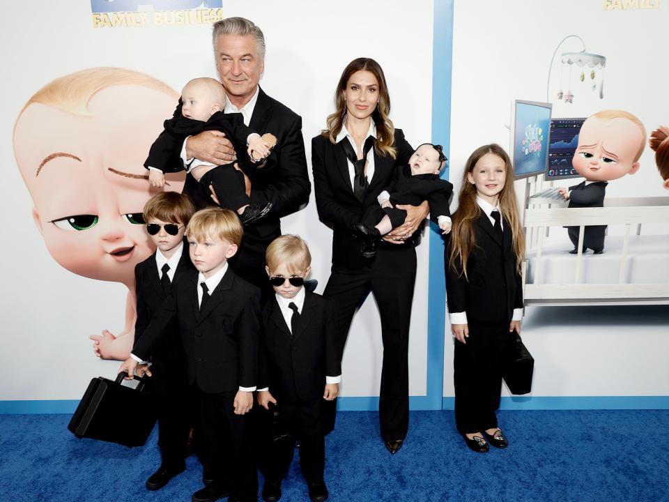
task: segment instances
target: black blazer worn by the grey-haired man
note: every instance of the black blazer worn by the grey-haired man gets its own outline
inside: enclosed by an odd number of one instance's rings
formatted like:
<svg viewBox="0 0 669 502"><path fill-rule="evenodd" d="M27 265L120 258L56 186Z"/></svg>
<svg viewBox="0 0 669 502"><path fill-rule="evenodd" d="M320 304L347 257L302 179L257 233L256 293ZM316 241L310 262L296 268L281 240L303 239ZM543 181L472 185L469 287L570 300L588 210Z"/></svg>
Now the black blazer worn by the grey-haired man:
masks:
<svg viewBox="0 0 669 502"><path fill-rule="evenodd" d="M174 115L181 115L180 105ZM272 209L259 222L245 227L242 252L252 250L264 254L268 244L281 235L279 218L295 213L307 204L312 184L307 172L302 119L298 114L259 89L249 127L256 131L271 132L277 137L277 146L272 151L272 155L276 155L275 167L253 169L254 165L249 163L246 171L252 185L252 202L262 204L269 201ZM183 142L180 142L177 157L182 146ZM246 155L246 148L243 152L237 152L238 157L242 155ZM192 176L186 177L183 192L192 197L197 208L213 204L210 199L203 199L199 195L197 181Z"/></svg>

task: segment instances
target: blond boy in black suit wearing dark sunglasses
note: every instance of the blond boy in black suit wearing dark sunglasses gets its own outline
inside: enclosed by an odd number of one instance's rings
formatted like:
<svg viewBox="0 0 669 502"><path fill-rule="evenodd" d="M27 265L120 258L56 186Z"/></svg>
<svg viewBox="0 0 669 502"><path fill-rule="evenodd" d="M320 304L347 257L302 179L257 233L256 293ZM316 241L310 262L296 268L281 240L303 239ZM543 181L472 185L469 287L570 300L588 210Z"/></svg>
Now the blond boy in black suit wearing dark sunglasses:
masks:
<svg viewBox="0 0 669 502"><path fill-rule="evenodd" d="M275 404L277 426L292 436L270 440L266 448L263 500L281 498L281 480L293 458L297 437L309 498L324 501L328 489L323 480L323 400L337 397L341 381L334 303L303 287L312 257L302 238L276 238L268 246L266 258L266 271L276 294L262 313L258 403L265 409Z"/></svg>

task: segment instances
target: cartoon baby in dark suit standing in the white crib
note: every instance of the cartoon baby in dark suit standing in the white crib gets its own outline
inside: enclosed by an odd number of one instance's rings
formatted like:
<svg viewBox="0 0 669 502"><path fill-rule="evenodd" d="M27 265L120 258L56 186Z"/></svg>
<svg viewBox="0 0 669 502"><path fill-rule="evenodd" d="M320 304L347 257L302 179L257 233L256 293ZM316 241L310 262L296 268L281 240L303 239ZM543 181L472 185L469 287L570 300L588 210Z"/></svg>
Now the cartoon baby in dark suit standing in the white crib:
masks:
<svg viewBox="0 0 669 502"><path fill-rule="evenodd" d="M603 207L606 185L609 181L634 174L639 170L639 158L646 144L643 123L623 110L603 110L589 116L578 133L578 146L571 160L576 172L585 178L578 185L560 188L569 207ZM579 227L567 227L574 244L571 254L578 252ZM588 248L594 254L604 250L606 225L585 227L583 252Z"/></svg>

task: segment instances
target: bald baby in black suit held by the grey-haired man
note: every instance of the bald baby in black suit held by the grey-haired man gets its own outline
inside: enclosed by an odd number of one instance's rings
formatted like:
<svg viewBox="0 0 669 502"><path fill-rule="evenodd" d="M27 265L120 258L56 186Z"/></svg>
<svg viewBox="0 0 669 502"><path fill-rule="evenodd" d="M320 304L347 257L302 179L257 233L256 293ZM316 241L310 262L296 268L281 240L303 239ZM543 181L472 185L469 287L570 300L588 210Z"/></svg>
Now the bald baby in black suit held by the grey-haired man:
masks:
<svg viewBox="0 0 669 502"><path fill-rule="evenodd" d="M144 167L149 169L148 181L151 185L162 188L165 184L165 172L179 172L184 169L181 162L174 162L174 149L177 144L204 130L225 132L240 153L238 165L248 169L248 162L243 152L247 151L248 160L256 167L270 169L270 165L261 160L270 155L277 143L276 137L266 134L262 137L244 125L242 114L224 114L225 91L220 82L211 78L197 78L188 82L181 91L181 116L174 116L164 122L164 132L157 137ZM210 195L209 185L213 185L219 205L237 211L242 222L247 225L262 218L272 208L271 203L251 204L246 195L243 173L233 167L233 163L213 165L197 158L186 167L186 172L199 182L203 197Z"/></svg>

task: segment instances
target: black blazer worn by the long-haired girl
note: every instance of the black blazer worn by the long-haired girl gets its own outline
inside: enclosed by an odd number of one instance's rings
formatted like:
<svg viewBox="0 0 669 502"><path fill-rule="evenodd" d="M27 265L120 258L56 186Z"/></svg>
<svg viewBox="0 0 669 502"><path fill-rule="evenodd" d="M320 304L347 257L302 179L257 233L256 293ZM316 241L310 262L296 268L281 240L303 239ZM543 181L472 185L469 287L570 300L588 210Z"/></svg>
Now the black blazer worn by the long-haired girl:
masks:
<svg viewBox="0 0 669 502"><path fill-rule="evenodd" d="M477 245L467 261L468 280L460 261L449 266L451 234L445 248L446 291L449 312L467 312L467 319L511 321L514 308L523 308L523 284L516 273L516 256L509 222L503 220L500 238L488 215L474 221Z"/></svg>

